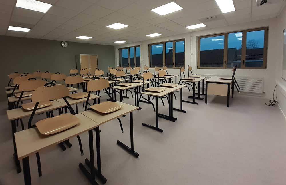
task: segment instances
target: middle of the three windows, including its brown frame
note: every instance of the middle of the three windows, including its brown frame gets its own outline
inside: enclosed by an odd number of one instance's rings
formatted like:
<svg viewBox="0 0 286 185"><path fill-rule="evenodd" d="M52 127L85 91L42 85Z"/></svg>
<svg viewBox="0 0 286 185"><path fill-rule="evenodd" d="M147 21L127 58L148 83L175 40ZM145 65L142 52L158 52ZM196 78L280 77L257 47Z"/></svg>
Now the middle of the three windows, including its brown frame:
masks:
<svg viewBox="0 0 286 185"><path fill-rule="evenodd" d="M149 67L179 68L185 65L185 39L149 44Z"/></svg>

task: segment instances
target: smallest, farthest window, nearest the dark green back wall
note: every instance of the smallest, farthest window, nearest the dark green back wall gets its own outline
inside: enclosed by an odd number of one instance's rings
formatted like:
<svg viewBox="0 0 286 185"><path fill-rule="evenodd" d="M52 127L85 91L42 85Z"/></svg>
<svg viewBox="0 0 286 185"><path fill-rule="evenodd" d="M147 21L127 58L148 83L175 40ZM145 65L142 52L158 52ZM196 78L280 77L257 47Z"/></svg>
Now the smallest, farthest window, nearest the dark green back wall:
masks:
<svg viewBox="0 0 286 185"><path fill-rule="evenodd" d="M119 62L121 67L140 67L140 46L120 48Z"/></svg>

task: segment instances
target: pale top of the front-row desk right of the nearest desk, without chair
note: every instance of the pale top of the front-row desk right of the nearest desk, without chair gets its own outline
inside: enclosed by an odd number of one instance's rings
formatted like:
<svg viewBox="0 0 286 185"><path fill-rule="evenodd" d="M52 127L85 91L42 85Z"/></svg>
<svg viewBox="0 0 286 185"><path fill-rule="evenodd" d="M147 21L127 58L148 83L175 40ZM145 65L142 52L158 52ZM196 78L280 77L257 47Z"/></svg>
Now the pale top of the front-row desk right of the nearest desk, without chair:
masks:
<svg viewBox="0 0 286 185"><path fill-rule="evenodd" d="M87 110L87 111L81 112L81 114L87 116L88 118L94 120L95 122L101 125L101 124L114 120L120 116L123 116L125 114L128 114L138 109L138 107L129 105L126 103L122 103L118 101L116 103L122 104L122 108L120 108L119 110L115 112L109 113L109 114L102 114L102 113L99 113L93 110Z"/></svg>

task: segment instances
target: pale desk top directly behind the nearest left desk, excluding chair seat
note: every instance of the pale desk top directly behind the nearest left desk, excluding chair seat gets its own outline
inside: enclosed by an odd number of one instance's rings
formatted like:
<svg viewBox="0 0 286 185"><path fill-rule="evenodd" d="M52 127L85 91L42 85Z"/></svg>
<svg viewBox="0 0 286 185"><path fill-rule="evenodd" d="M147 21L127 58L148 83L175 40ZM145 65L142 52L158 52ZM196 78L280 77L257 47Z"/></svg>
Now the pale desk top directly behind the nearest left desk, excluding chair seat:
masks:
<svg viewBox="0 0 286 185"><path fill-rule="evenodd" d="M37 109L35 114L41 114L43 112L48 112L51 110L55 110L57 108L61 108L66 106L66 104L62 104L60 102L58 102L57 100L51 101L53 102L53 104L51 104L50 106L44 107L44 108L40 108ZM16 119L20 119L20 118L25 118L25 117L29 117L32 114L32 110L24 110L23 108L16 108L16 109L12 109L12 110L7 110L7 116L8 119L11 120L16 120Z"/></svg>

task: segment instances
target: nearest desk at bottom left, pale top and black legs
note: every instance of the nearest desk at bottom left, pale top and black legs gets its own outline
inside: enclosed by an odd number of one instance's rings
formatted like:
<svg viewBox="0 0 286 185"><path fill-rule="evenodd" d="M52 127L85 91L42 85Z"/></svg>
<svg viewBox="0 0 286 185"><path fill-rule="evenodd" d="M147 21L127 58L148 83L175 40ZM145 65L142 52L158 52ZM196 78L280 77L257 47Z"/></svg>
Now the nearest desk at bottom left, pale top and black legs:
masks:
<svg viewBox="0 0 286 185"><path fill-rule="evenodd" d="M89 135L89 149L90 149L90 164L94 166L94 150L93 150L93 133L92 129L98 128L99 124L83 114L76 114L80 123L76 126L69 128L63 132L45 136L39 133L37 128L30 128L21 132L15 133L15 143L18 153L18 159L23 161L23 174L25 185L31 185L31 174L29 156L40 152L41 150L50 146L59 144L74 136L88 131ZM99 129L96 129L99 130ZM97 134L99 135L99 134ZM96 143L98 143L96 141ZM80 163L81 164L81 163ZM79 166L80 166L79 164ZM91 174L95 174L94 168L91 168ZM90 178L90 182L97 184L97 182Z"/></svg>

